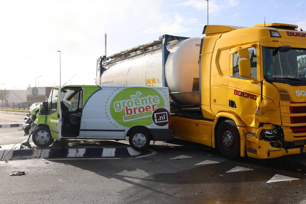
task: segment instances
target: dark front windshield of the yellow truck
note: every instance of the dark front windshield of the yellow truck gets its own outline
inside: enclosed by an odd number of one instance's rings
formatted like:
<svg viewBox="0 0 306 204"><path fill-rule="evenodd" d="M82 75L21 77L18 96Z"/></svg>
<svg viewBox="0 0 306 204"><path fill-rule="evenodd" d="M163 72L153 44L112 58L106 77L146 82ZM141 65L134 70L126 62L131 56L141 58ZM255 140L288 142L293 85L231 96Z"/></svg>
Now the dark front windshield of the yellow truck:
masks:
<svg viewBox="0 0 306 204"><path fill-rule="evenodd" d="M263 73L267 80L306 80L306 49L292 48L287 52L263 47Z"/></svg>

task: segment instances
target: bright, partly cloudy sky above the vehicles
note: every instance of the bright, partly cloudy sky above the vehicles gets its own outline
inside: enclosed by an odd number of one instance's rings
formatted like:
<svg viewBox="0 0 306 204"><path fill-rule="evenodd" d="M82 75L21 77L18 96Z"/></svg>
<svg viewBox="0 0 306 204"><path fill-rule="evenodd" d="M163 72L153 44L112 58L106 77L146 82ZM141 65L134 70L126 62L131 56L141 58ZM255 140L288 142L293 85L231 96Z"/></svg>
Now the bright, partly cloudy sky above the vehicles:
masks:
<svg viewBox="0 0 306 204"><path fill-rule="evenodd" d="M306 30L306 0L209 0L209 24L296 24ZM205 0L28 0L0 2L0 89L94 85L96 63L163 34L204 37ZM4 84L4 85L2 85Z"/></svg>

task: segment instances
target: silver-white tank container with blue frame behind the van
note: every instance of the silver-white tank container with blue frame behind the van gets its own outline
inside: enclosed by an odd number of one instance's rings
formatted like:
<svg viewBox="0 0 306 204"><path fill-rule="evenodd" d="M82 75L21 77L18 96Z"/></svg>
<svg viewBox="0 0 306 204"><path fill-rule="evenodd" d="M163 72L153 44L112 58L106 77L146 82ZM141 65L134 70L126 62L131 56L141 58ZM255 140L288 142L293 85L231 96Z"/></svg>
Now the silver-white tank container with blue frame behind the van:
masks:
<svg viewBox="0 0 306 204"><path fill-rule="evenodd" d="M97 63L97 85L166 86L175 104L199 105L201 38L163 35ZM188 92L188 93L185 93Z"/></svg>

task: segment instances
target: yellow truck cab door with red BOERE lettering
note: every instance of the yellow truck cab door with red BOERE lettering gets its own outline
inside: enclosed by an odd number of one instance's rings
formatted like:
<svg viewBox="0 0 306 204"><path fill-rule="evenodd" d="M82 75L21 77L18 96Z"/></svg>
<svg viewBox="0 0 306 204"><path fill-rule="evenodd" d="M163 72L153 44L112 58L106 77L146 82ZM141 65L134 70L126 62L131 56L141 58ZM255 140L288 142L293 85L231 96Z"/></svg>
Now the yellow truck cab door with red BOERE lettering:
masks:
<svg viewBox="0 0 306 204"><path fill-rule="evenodd" d="M248 45L249 46L249 45ZM246 46L241 46L246 47ZM247 126L257 126L256 118L259 118L259 106L261 103L261 87L260 87L260 62L259 62L259 45L248 48L251 60L251 77L257 81L251 81L242 78L239 75L239 58L235 53L239 48L232 48L230 54L230 78L228 83L228 99L229 111L239 115ZM257 111L256 111L257 110ZM258 116L258 117L257 117ZM257 120L258 122L258 120Z"/></svg>

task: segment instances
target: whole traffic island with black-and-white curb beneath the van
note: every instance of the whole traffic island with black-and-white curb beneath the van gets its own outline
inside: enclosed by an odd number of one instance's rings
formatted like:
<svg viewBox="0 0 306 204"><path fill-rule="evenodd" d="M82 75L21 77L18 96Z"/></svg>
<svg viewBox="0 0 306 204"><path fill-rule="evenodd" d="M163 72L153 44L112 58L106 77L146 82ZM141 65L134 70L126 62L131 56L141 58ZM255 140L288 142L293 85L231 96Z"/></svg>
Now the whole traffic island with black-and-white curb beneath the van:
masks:
<svg viewBox="0 0 306 204"><path fill-rule="evenodd" d="M32 149L28 147L20 148L20 144L3 145L0 149L0 160L15 159L118 159L137 158L152 155L152 151L136 151L129 144L113 140L63 140L54 141L49 147L39 148L30 143Z"/></svg>

